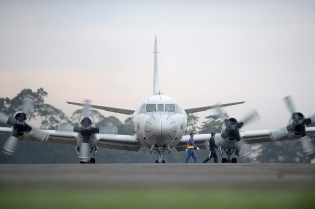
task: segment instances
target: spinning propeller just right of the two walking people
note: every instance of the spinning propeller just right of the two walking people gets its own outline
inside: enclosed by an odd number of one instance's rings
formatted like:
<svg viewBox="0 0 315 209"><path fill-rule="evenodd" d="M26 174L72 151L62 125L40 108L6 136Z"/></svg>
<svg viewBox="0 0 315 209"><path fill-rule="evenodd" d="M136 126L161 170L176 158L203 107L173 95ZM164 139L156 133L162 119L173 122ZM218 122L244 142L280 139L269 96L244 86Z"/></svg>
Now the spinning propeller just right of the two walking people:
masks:
<svg viewBox="0 0 315 209"><path fill-rule="evenodd" d="M240 122L237 122L235 118L226 118L227 115L223 114L220 110L220 106L216 108L216 111L221 119L223 119L223 123L225 124L225 132L221 135L223 138L228 139L235 139L237 142L235 146L241 152L242 154L240 157L246 158L250 154L250 150L247 147L247 143L245 143L243 140L241 140L241 137L239 135L240 128L248 124L250 121L253 121L254 119L259 119L259 114L256 110L251 111L247 116Z"/></svg>

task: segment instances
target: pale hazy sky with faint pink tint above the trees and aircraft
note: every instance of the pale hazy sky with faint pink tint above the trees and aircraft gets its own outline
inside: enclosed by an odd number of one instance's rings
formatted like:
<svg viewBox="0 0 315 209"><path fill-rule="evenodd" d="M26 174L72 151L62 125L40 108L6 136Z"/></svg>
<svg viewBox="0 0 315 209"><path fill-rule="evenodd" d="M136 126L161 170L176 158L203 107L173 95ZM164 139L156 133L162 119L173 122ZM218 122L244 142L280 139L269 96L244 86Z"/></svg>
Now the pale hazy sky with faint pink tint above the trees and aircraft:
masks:
<svg viewBox="0 0 315 209"><path fill-rule="evenodd" d="M43 87L68 116L79 107L66 101L87 98L136 109L152 95L156 33L160 89L184 108L244 100L224 109L260 113L242 130L286 126L286 95L315 113L315 1L2 0L0 97Z"/></svg>

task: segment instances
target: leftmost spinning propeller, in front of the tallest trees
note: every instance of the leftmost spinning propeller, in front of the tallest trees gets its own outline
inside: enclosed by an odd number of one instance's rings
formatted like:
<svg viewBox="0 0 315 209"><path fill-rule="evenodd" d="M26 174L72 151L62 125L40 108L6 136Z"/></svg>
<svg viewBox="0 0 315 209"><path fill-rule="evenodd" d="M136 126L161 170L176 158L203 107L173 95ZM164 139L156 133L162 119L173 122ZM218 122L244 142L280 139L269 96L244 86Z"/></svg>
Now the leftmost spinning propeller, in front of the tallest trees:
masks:
<svg viewBox="0 0 315 209"><path fill-rule="evenodd" d="M32 105L34 104L35 98L30 95L25 96L25 100L22 104L22 111L17 112L15 115L16 119L10 118L5 114L0 115L0 122L3 124L8 124L13 127L12 134L3 146L3 152L12 155L18 144L18 136L22 135L24 132L31 132L31 134L39 139L40 141L47 141L49 135L46 132L41 132L39 130L33 129L28 125L27 114L29 113Z"/></svg>

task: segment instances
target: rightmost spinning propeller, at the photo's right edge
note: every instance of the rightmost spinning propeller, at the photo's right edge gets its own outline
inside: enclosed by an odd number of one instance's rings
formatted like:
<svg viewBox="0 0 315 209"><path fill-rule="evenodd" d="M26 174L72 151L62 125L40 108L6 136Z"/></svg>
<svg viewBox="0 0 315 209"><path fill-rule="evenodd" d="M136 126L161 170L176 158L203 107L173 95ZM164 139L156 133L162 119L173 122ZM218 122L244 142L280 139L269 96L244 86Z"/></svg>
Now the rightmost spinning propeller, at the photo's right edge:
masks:
<svg viewBox="0 0 315 209"><path fill-rule="evenodd" d="M295 133L295 135L300 136L299 142L301 143L302 152L305 155L309 155L315 152L315 147L311 142L311 139L306 135L306 126L315 123L315 115L304 118L303 114L296 112L293 98L291 96L286 96L283 99L286 107L292 116L292 122L287 127L283 129L274 130L270 133L272 140L277 140L282 137L288 136L289 132Z"/></svg>

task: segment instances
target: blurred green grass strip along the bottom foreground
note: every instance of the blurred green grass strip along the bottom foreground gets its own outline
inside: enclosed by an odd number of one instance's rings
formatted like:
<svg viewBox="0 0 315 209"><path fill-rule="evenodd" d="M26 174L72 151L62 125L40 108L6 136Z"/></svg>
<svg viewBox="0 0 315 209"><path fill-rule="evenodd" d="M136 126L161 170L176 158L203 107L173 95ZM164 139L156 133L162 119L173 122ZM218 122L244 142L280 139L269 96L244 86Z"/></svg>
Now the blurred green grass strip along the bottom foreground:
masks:
<svg viewBox="0 0 315 209"><path fill-rule="evenodd" d="M0 208L313 208L315 189L0 188Z"/></svg>

